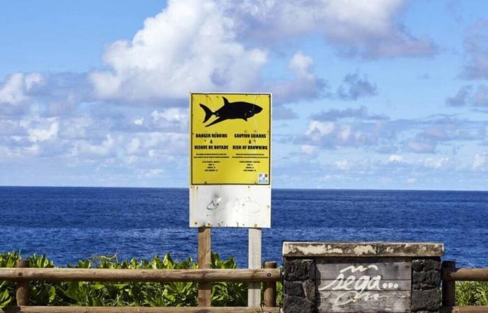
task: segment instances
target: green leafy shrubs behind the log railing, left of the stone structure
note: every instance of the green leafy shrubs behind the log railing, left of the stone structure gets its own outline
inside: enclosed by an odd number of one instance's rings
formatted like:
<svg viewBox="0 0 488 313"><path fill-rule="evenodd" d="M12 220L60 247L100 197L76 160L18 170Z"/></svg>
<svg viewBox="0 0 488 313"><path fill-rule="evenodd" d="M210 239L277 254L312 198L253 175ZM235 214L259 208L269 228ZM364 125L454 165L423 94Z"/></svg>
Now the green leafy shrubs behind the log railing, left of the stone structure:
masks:
<svg viewBox="0 0 488 313"><path fill-rule="evenodd" d="M0 254L0 267L15 267L21 255L17 252ZM28 257L30 267L54 267L44 255ZM146 260L123 260L113 257L93 257L69 264L71 268L197 268L191 258L174 262L169 254ZM212 268L237 268L233 257L220 259L212 253ZM198 284L194 282L31 282L31 305L82 306L196 306ZM278 290L280 291L280 289ZM0 307L15 305L15 282L0 283ZM246 306L247 284L243 282L215 282L212 284L213 306Z"/></svg>

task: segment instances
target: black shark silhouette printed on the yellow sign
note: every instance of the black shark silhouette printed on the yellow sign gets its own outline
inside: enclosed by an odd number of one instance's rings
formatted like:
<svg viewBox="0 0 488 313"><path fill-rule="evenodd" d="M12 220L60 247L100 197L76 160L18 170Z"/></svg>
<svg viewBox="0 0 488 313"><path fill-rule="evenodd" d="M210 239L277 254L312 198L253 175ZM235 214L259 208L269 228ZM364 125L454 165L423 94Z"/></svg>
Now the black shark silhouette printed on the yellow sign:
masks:
<svg viewBox="0 0 488 313"><path fill-rule="evenodd" d="M206 127L223 122L224 120L235 120L236 118L247 121L248 118L251 118L257 113L263 111L263 108L261 108L261 106L257 106L256 104L251 104L248 102L229 103L229 100L227 100L225 97L223 98L224 106L222 106L222 108L218 109L215 112L212 112L212 110L208 109L207 106L200 104L201 109L204 109L205 111L204 122L208 121L208 119L211 118L212 115L215 115L217 117L217 120L214 120L210 124L206 125Z"/></svg>

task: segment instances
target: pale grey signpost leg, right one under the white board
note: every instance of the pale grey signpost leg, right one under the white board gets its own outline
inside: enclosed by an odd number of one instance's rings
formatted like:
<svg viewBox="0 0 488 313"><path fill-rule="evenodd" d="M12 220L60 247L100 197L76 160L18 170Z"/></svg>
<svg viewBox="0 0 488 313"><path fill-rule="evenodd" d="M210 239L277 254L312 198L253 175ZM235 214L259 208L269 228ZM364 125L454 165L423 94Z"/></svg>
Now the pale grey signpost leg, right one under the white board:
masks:
<svg viewBox="0 0 488 313"><path fill-rule="evenodd" d="M261 268L261 228L250 228L248 239L248 268ZM247 289L247 306L259 307L261 305L261 283L250 282Z"/></svg>

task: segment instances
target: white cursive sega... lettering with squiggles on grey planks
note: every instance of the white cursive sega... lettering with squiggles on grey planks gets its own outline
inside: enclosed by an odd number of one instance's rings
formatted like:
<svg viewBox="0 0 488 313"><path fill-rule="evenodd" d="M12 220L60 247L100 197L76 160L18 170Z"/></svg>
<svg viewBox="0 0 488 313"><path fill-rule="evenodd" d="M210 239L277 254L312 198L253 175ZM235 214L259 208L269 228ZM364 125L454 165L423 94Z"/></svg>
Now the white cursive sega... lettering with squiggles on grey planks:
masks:
<svg viewBox="0 0 488 313"><path fill-rule="evenodd" d="M387 296L380 296L379 292L382 290L387 289L398 289L398 284L394 284L392 282L381 282L381 275L362 275L356 277L356 275L349 275L346 278L347 272L354 274L356 272L362 273L367 271L369 268L372 268L374 271L378 271L378 266L371 264L368 266L347 266L342 268L337 275L337 278L330 282L330 284L326 285L325 287L320 288L319 290L338 290L338 291L345 291L344 293L337 296L334 300L335 306L342 306L347 305L348 303L356 303L358 300L365 300L368 301L372 300L379 300L379 298L385 298Z"/></svg>

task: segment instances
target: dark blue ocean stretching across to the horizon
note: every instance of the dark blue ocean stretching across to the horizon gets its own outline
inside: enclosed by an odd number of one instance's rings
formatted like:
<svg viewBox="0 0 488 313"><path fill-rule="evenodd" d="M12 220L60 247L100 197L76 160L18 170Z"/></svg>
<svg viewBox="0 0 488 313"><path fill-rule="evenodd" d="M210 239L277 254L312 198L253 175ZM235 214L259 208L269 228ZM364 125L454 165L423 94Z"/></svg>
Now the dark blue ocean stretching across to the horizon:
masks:
<svg viewBox="0 0 488 313"><path fill-rule="evenodd" d="M436 241L459 266L488 267L488 192L273 190L263 259L282 241ZM94 255L197 254L188 189L0 187L0 252L58 266ZM213 229L213 250L247 266L247 230Z"/></svg>

